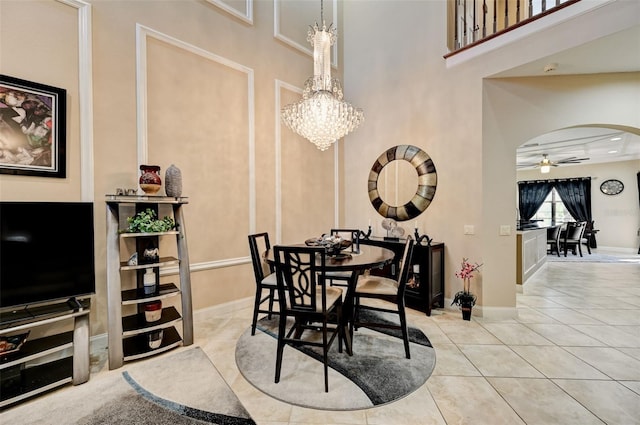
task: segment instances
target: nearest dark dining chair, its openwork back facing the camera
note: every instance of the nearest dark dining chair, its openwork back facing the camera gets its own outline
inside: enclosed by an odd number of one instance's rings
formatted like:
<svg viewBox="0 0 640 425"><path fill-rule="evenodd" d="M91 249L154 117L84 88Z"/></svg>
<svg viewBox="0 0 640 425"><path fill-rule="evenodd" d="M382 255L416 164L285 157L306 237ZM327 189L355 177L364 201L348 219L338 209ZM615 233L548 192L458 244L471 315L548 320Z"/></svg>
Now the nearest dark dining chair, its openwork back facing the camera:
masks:
<svg viewBox="0 0 640 425"><path fill-rule="evenodd" d="M276 245L273 249L280 299L275 382L280 382L285 345L321 347L324 390L329 392L329 349L337 337L338 351L342 352L346 332L342 320L342 289L325 284L323 247ZM289 318L294 320L287 330Z"/></svg>

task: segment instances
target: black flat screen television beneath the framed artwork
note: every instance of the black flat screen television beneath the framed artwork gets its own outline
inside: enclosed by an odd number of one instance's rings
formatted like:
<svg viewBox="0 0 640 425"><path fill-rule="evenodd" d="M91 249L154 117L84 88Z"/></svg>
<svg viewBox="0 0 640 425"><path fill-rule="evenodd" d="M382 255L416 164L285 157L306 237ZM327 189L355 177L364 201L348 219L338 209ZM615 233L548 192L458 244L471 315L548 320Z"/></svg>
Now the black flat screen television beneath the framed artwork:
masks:
<svg viewBox="0 0 640 425"><path fill-rule="evenodd" d="M0 202L0 309L95 293L92 202Z"/></svg>

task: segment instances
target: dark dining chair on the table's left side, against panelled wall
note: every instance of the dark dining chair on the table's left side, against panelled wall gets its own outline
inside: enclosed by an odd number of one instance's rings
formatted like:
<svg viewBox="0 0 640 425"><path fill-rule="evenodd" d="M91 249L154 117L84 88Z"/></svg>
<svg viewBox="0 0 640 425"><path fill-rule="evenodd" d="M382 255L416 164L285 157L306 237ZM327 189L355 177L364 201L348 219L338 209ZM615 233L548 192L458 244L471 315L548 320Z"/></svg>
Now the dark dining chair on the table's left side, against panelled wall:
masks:
<svg viewBox="0 0 640 425"><path fill-rule="evenodd" d="M268 233L256 233L249 235L249 250L251 251L251 262L253 264L253 274L256 279L256 294L253 302L253 320L251 321L251 335L256 334L256 324L258 314L266 313L269 319L272 314L278 314L274 310L275 302L278 300L276 292L278 289L275 267L268 264L261 257L262 253L271 248ZM268 303L268 308L261 306Z"/></svg>

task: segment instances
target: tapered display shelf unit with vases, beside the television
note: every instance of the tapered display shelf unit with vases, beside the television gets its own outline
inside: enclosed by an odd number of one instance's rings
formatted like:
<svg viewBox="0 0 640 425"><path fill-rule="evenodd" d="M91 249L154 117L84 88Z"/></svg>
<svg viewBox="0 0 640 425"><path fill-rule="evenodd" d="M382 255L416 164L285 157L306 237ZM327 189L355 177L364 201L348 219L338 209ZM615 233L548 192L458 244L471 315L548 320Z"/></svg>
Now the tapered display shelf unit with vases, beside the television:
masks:
<svg viewBox="0 0 640 425"><path fill-rule="evenodd" d="M117 369L126 361L193 344L191 278L182 210L187 198L107 195L106 204L109 368ZM149 209L160 217L162 208L170 210L175 229L130 232L125 228L125 218ZM160 256L173 245L172 239L175 248L171 251L177 255ZM178 281L160 282L161 270L175 267Z"/></svg>

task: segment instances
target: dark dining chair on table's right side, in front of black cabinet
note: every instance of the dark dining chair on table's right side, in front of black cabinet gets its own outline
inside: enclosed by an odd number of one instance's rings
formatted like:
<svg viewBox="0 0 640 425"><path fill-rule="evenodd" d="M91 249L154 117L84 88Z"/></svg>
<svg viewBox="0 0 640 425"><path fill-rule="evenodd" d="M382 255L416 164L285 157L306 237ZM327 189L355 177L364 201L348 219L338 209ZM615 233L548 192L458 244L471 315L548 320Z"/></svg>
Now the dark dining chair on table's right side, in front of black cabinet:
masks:
<svg viewBox="0 0 640 425"><path fill-rule="evenodd" d="M413 254L413 239L407 239L404 247L402 259L400 260L400 273L397 279L390 279L383 276L362 275L358 278L355 290L355 317L353 326L357 329L360 326L382 329L396 329L402 332L404 341L404 351L408 359L411 358L409 350L409 331L407 328L407 316L404 304L404 292L409 278L411 267L411 255ZM393 307L372 306L361 303L362 298L377 299L387 301ZM384 321L363 319L363 311L377 311L383 313L397 314L400 324Z"/></svg>

